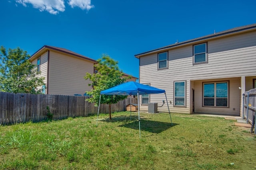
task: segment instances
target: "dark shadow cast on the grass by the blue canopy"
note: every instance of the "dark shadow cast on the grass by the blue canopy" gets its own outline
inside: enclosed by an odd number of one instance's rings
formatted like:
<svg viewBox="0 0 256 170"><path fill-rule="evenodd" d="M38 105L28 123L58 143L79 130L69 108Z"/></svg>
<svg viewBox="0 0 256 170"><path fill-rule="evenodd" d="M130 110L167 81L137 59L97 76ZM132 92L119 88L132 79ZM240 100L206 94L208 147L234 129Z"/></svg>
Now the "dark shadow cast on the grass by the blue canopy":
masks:
<svg viewBox="0 0 256 170"><path fill-rule="evenodd" d="M140 120L140 130L142 131L148 131L151 133L161 133L162 131L166 131L170 127L174 127L176 125L179 125L177 123L166 123L166 122L160 122L160 121L151 121L151 120ZM119 125L119 127L128 127L132 129L139 130L139 122L134 121L131 123L126 123L123 125Z"/></svg>

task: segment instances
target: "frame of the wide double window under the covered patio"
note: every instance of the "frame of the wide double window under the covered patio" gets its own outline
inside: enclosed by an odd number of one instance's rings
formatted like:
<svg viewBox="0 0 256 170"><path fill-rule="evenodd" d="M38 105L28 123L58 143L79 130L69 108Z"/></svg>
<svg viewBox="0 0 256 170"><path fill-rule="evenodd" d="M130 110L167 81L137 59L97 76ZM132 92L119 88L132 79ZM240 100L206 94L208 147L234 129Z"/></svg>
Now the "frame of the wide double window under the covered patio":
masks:
<svg viewBox="0 0 256 170"><path fill-rule="evenodd" d="M217 95L216 95L216 84L217 83L227 83L228 94L227 94L227 106L216 106ZM204 84L214 84L214 106L204 106ZM211 99L211 98L208 98ZM229 108L229 81L219 81L219 82L203 82L203 98L202 98L202 107L221 107L221 108Z"/></svg>

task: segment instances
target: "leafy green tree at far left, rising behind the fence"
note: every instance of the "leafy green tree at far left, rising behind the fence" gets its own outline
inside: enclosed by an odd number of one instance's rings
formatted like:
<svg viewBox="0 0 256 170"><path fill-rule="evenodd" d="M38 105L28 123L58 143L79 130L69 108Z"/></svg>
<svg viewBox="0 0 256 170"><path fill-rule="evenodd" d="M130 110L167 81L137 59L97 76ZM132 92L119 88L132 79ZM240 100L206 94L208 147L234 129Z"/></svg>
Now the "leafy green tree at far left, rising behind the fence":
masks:
<svg viewBox="0 0 256 170"><path fill-rule="evenodd" d="M0 48L0 92L31 93L40 94L42 89L37 87L44 85L44 78L39 78L40 74L35 65L28 59L30 55L19 47L16 49Z"/></svg>

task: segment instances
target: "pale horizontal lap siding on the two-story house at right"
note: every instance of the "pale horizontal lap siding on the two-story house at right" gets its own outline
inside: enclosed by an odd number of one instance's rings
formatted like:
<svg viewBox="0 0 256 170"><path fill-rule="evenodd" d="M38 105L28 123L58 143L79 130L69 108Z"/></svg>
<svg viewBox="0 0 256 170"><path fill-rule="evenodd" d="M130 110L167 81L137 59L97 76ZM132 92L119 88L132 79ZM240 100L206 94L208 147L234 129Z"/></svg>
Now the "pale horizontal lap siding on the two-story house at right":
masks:
<svg viewBox="0 0 256 170"><path fill-rule="evenodd" d="M196 44L203 42L206 41L197 42ZM165 70L157 70L157 53L140 57L140 83L150 83L151 86L166 90L172 112L191 113L191 89L196 88L196 85L190 84L190 81L226 78L226 80L230 80L230 90L232 90L232 86L239 87L240 83L240 80L239 82L232 82L232 78L256 76L256 31L219 37L209 40L207 43L208 63L205 64L193 65L193 45L170 49L168 51L169 68ZM187 82L186 108L173 107L173 84L174 81L178 80L186 80ZM236 88L234 88L234 90L235 89ZM240 94L236 94L234 98L230 96L230 104L237 104L236 100L240 100ZM150 96L150 102L162 104L162 100L163 98L159 95ZM170 101L172 104L170 104ZM196 102L200 103L200 101ZM202 104L201 106L197 105L197 108L200 107L202 107ZM232 111L228 109L224 109L224 111L227 111L228 114L232 114L234 113L233 108L235 108L235 111L239 110L236 106L230 105L230 108ZM141 109L147 110L147 106L141 106ZM158 107L158 111L167 111L167 105L165 104L163 107ZM198 111L206 112L204 109L198 109ZM223 110L220 111L220 109L216 109L215 111L216 113L220 113Z"/></svg>

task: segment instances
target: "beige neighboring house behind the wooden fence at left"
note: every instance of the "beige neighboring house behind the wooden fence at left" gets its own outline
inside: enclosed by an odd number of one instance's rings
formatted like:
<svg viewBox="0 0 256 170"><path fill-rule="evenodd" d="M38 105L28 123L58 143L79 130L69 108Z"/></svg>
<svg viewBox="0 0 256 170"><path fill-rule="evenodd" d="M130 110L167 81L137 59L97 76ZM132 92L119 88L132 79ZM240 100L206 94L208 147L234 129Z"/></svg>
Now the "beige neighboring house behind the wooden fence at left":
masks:
<svg viewBox="0 0 256 170"><path fill-rule="evenodd" d="M41 71L40 77L45 78L46 87L42 87L45 94L84 95L85 91L92 89L88 86L90 80L85 80L84 76L86 72L97 72L94 69L97 61L94 59L64 48L44 45L29 60ZM132 81L136 79L131 78Z"/></svg>

